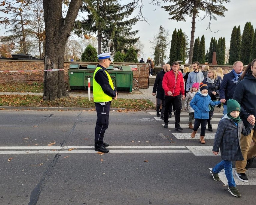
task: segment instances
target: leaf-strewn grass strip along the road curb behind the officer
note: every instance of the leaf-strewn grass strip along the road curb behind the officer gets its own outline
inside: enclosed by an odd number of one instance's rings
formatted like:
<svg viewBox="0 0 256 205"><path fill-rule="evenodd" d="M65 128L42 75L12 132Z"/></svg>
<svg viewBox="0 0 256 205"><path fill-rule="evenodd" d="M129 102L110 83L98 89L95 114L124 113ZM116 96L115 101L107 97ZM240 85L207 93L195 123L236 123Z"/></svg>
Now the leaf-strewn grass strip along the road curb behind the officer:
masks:
<svg viewBox="0 0 256 205"><path fill-rule="evenodd" d="M52 101L44 101L42 96L36 95L0 95L0 106L14 107L75 107L94 108L94 102L87 97L64 97ZM150 100L117 99L112 100L111 108L126 108L128 110L153 110L154 104Z"/></svg>

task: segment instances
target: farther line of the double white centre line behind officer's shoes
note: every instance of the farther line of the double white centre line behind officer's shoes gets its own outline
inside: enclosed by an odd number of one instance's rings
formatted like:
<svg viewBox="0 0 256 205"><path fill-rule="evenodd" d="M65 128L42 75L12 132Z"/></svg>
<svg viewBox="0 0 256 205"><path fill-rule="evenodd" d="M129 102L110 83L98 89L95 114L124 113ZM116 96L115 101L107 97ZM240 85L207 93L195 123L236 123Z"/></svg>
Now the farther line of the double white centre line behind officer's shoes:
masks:
<svg viewBox="0 0 256 205"><path fill-rule="evenodd" d="M94 149L94 146L16 146L16 147L0 147L0 150L56 150L56 149ZM109 146L112 149L186 149L186 146Z"/></svg>

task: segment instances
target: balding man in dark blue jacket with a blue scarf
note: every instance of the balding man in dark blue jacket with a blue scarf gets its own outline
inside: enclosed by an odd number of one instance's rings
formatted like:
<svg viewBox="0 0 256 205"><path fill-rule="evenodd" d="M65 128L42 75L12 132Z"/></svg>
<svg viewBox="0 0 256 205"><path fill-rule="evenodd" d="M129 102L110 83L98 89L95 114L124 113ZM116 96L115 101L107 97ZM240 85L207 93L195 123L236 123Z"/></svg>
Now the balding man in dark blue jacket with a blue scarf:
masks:
<svg viewBox="0 0 256 205"><path fill-rule="evenodd" d="M227 101L232 99L238 78L242 75L243 63L236 61L233 65L233 70L223 77L220 87L220 99L223 103L223 114L227 114Z"/></svg>

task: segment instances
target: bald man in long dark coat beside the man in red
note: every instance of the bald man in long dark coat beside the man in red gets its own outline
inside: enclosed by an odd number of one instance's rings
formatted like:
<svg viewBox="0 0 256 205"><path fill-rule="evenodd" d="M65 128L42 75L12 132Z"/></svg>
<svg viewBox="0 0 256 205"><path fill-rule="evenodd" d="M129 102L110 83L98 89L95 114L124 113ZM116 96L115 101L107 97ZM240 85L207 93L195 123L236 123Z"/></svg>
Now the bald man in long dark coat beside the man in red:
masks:
<svg viewBox="0 0 256 205"><path fill-rule="evenodd" d="M168 72L170 69L171 69L171 66L169 64L163 65L163 70L157 73L156 80L153 87L153 93L152 93L152 95L155 96L157 91L157 105L156 105L157 117L160 117L159 110L160 110L160 106L162 105L162 110L161 110L162 120L164 120L164 109L165 109L164 90L162 87L162 81L163 81L164 74Z"/></svg>

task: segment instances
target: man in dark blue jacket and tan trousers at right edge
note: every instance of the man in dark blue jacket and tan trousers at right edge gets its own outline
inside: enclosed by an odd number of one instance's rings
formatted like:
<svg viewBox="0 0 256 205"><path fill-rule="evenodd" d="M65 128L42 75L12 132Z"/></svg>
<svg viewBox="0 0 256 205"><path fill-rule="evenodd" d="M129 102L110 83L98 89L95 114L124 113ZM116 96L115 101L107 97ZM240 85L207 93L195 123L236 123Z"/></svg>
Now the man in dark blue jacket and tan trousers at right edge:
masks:
<svg viewBox="0 0 256 205"><path fill-rule="evenodd" d="M256 59L251 62L251 69L245 74L234 91L233 99L241 105L241 112L239 116L243 120L244 126L248 124L255 124L256 116ZM251 131L248 136L241 135L241 150L243 154L243 161L236 161L236 176L243 182L248 182L246 172L246 161L256 155L256 130ZM251 145L251 140L254 145Z"/></svg>

